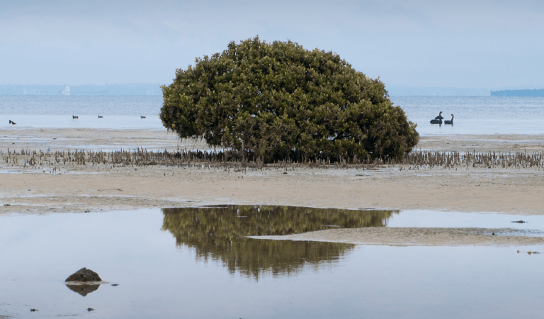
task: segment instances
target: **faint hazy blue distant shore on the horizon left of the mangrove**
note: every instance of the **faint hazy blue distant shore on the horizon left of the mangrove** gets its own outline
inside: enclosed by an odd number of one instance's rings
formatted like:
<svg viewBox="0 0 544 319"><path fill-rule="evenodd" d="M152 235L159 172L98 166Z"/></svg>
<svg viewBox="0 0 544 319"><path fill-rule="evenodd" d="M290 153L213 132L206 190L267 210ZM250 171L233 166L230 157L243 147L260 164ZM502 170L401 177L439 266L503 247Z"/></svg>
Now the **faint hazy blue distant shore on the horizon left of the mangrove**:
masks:
<svg viewBox="0 0 544 319"><path fill-rule="evenodd" d="M161 84L0 85L0 95L162 95Z"/></svg>

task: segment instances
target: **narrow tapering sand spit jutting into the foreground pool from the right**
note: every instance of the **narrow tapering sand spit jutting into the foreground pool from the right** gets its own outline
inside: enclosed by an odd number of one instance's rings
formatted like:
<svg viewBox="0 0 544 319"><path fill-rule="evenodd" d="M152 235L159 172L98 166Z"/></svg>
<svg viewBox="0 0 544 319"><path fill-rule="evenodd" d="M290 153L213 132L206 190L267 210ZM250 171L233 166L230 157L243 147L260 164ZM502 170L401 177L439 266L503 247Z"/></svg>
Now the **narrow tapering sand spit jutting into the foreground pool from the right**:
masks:
<svg viewBox="0 0 544 319"><path fill-rule="evenodd" d="M492 235L495 233L497 235ZM506 228L390 228L368 227L285 236L255 236L263 240L312 240L388 246L494 246L544 245L544 237L517 236Z"/></svg>

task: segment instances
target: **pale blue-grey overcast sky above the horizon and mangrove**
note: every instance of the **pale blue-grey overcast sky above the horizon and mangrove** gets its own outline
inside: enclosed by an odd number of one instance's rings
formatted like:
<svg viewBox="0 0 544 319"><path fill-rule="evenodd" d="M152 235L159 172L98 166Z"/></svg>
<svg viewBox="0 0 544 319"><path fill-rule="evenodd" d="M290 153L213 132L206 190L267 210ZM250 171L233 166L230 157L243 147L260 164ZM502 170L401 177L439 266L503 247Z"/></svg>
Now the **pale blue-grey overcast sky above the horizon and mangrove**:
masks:
<svg viewBox="0 0 544 319"><path fill-rule="evenodd" d="M0 84L170 84L293 40L387 85L544 88L544 1L0 1Z"/></svg>

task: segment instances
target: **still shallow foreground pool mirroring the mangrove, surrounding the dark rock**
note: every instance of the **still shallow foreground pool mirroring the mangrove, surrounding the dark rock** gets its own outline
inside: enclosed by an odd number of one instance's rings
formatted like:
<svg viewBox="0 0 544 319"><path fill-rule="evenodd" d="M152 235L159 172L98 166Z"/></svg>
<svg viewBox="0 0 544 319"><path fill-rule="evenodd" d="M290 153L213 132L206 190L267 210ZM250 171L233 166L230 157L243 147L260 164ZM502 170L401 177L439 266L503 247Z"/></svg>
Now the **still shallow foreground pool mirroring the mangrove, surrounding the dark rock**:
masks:
<svg viewBox="0 0 544 319"><path fill-rule="evenodd" d="M436 213L438 215L434 215ZM512 227L520 216L458 213ZM541 318L544 247L257 240L341 227L453 223L425 211L272 206L0 218L0 315L89 318ZM542 216L523 216L542 230ZM110 283L86 296L81 267ZM94 308L91 313L86 308ZM30 313L36 308L37 313Z"/></svg>

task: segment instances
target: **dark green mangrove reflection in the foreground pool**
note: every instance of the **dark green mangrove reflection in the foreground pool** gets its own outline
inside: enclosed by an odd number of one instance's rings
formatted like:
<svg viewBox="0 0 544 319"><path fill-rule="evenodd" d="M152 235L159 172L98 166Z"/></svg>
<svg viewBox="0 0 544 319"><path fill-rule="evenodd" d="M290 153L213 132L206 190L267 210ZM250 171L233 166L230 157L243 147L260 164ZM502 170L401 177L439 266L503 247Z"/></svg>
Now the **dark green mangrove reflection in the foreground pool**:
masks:
<svg viewBox="0 0 544 319"><path fill-rule="evenodd" d="M229 272L292 274L331 265L354 245L333 242L257 240L246 236L290 235L314 230L383 227L398 211L349 211L291 206L164 208L162 230L176 245L196 250L197 259L222 262Z"/></svg>

